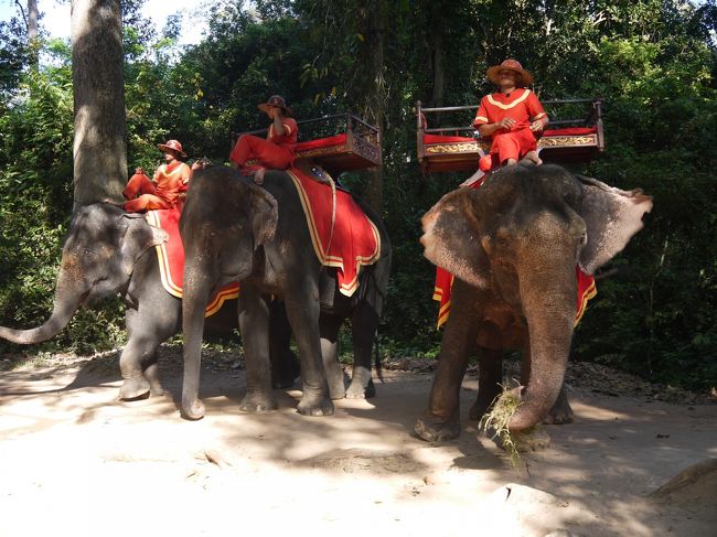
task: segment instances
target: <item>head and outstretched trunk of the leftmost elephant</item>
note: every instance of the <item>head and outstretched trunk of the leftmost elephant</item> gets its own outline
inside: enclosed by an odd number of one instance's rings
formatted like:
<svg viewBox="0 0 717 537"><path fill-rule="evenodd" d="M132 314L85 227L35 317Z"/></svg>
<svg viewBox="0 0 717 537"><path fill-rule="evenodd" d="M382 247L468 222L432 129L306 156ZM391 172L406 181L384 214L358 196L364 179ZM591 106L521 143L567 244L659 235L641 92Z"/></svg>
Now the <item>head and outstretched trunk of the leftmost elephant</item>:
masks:
<svg viewBox="0 0 717 537"><path fill-rule="evenodd" d="M141 214L109 204L79 207L65 237L52 315L31 330L0 326L0 337L32 344L55 336L84 303L127 289L139 257L165 240L167 234Z"/></svg>

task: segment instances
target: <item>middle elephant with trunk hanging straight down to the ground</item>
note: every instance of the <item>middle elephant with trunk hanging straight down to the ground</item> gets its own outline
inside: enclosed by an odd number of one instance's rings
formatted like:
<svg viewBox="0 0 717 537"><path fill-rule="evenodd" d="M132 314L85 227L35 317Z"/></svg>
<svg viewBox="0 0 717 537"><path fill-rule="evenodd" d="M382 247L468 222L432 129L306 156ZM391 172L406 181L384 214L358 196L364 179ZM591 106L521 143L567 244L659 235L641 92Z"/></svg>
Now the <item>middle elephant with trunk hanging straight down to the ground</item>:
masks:
<svg viewBox="0 0 717 537"><path fill-rule="evenodd" d="M371 380L371 343L388 284L390 243L378 215L357 203L378 232L381 250L378 259L360 271L354 294L346 297L336 289L335 270L323 267L314 254L302 201L286 172L267 171L261 186L227 167L207 168L193 176L180 219L185 251L185 418L201 419L205 412L197 397L202 311L212 291L229 281L238 281L242 289L238 321L247 372L243 411L277 408L268 359L271 297L283 300L299 350L303 391L299 414L333 414L331 397L342 389L343 376L322 367L322 356L324 363L335 361L336 335L346 316L352 319L354 341L347 396L363 397Z"/></svg>

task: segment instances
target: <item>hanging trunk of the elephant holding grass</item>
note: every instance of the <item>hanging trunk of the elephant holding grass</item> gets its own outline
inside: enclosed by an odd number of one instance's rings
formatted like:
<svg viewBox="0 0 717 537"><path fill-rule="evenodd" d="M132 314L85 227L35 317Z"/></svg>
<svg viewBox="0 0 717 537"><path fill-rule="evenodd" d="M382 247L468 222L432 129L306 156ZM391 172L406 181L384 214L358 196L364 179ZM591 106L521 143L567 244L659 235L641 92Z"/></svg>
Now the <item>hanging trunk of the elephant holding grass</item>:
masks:
<svg viewBox="0 0 717 537"><path fill-rule="evenodd" d="M529 333L531 370L523 402L511 418L509 429L520 432L539 423L560 394L570 353L575 323L575 276L572 284L545 292L545 282L533 281L529 289L542 289L524 298Z"/></svg>

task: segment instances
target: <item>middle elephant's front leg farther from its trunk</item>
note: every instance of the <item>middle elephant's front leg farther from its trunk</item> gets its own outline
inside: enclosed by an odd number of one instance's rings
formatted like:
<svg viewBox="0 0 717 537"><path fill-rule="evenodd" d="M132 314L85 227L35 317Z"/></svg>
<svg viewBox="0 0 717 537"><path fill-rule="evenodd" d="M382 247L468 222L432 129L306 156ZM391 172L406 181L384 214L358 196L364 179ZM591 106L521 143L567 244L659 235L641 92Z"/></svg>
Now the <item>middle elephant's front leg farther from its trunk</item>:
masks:
<svg viewBox="0 0 717 537"><path fill-rule="evenodd" d="M299 347L303 389L297 409L304 416L330 416L333 414L333 402L329 396L329 384L321 358L317 299L319 292L315 286L311 287L304 281L291 283L290 289L295 292L285 300L289 323Z"/></svg>

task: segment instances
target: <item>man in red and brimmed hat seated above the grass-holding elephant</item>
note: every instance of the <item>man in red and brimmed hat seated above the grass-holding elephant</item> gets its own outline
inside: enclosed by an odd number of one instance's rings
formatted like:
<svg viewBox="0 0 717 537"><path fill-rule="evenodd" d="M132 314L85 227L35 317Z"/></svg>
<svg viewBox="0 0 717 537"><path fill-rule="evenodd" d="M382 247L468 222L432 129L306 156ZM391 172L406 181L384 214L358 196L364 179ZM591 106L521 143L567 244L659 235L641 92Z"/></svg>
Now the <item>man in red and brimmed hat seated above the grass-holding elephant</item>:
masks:
<svg viewBox="0 0 717 537"><path fill-rule="evenodd" d="M524 87L533 83L533 75L520 62L506 60L489 68L486 76L499 92L481 99L473 120L482 137L493 139L490 153L479 162L481 171L516 164L523 158L542 164L533 132L542 131L548 117L535 94Z"/></svg>

